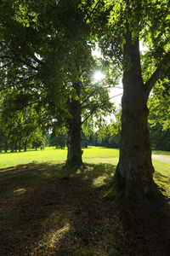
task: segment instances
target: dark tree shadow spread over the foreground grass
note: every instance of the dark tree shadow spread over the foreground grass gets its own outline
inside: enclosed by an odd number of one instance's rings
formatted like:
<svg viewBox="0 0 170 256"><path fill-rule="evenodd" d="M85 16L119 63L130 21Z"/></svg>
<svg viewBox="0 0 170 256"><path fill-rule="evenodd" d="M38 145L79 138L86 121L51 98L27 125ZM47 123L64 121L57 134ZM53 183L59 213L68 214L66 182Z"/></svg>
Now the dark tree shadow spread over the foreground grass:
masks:
<svg viewBox="0 0 170 256"><path fill-rule="evenodd" d="M3 169L0 254L169 255L165 201L103 199L115 168L43 163Z"/></svg>

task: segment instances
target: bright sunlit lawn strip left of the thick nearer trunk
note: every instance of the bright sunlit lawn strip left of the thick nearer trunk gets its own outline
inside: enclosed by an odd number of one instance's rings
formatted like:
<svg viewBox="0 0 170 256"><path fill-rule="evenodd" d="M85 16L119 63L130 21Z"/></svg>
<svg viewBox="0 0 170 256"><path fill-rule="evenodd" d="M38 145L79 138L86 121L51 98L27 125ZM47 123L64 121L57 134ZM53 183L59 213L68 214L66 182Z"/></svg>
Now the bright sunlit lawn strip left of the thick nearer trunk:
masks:
<svg viewBox="0 0 170 256"><path fill-rule="evenodd" d="M116 164L119 154L118 149L89 147L83 148L83 160L88 163L112 163ZM1 153L0 168L9 166L18 166L28 163L44 163L48 161L56 161L62 163L66 160L67 149L45 148L44 150L17 153Z"/></svg>

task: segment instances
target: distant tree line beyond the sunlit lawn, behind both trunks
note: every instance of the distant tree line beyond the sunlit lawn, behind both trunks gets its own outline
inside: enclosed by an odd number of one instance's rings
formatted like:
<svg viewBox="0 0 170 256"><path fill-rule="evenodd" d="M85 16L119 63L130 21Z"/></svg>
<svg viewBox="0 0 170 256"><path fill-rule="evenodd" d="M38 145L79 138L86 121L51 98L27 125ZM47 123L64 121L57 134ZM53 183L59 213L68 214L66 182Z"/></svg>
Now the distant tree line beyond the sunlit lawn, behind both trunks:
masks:
<svg viewBox="0 0 170 256"><path fill-rule="evenodd" d="M155 120L155 119L154 119ZM81 147L88 148L88 146L106 147L106 148L120 148L121 131L116 131L117 123L101 127L98 131L91 131L87 136L82 131ZM151 125L150 119L150 145L152 150L170 151L170 129L163 130L162 125L156 123ZM114 126L114 129L113 129ZM59 133L57 135L45 134L37 127L33 129L31 125L25 126L25 130L13 128L8 131L3 131L0 127L0 152L17 152L27 148L45 148L55 147L65 149L67 147L67 134ZM111 129L112 128L112 129Z"/></svg>

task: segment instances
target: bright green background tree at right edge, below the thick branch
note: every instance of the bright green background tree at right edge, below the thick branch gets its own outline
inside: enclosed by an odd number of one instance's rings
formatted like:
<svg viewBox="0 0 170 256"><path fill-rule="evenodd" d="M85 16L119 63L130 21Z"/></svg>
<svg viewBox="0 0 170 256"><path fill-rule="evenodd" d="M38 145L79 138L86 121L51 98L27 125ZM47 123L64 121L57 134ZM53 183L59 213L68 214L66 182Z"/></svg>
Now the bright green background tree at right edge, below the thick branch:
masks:
<svg viewBox="0 0 170 256"><path fill-rule="evenodd" d="M152 149L170 150L170 80L169 73L159 79L150 96L149 128Z"/></svg>

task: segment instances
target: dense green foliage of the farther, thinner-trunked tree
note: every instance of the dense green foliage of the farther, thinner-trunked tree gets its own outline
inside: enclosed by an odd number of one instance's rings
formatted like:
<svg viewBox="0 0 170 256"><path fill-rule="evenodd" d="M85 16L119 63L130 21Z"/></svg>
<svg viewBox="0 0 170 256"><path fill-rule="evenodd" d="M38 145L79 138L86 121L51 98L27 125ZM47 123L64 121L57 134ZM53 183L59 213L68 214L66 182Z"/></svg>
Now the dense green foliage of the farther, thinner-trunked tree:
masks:
<svg viewBox="0 0 170 256"><path fill-rule="evenodd" d="M92 81L101 61L92 56L94 38L79 3L14 1L10 12L4 12L9 2L3 2L0 90L4 96L10 94L6 113L19 112L31 104L41 112L43 129L55 131L67 126L71 118L69 99L81 102L82 123L92 115L98 119L113 111L105 88L112 74L96 87ZM102 66L108 70L106 62ZM73 86L77 82L81 84L78 93ZM113 79L111 83L115 84Z"/></svg>

